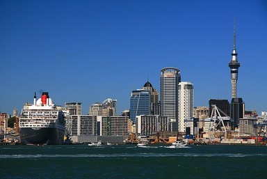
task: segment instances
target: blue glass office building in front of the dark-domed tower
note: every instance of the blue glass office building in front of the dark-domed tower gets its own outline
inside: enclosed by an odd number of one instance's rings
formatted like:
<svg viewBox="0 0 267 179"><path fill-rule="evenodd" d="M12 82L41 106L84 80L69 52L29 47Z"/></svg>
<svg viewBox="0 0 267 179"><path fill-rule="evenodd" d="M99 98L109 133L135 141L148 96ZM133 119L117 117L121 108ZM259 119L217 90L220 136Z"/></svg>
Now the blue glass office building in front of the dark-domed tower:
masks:
<svg viewBox="0 0 267 179"><path fill-rule="evenodd" d="M136 120L138 115L150 114L150 91L138 89L131 92L130 99L130 118L132 121Z"/></svg>

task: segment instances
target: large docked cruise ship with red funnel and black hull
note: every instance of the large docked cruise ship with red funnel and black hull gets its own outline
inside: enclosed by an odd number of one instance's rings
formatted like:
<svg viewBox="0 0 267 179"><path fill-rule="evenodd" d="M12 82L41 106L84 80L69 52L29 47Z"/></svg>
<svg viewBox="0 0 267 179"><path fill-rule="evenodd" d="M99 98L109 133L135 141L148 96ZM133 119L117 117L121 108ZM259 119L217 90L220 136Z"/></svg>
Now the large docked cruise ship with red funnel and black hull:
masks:
<svg viewBox="0 0 267 179"><path fill-rule="evenodd" d="M19 134L23 144L60 145L65 134L65 117L63 111L43 92L41 98L33 104L26 104L19 116Z"/></svg>

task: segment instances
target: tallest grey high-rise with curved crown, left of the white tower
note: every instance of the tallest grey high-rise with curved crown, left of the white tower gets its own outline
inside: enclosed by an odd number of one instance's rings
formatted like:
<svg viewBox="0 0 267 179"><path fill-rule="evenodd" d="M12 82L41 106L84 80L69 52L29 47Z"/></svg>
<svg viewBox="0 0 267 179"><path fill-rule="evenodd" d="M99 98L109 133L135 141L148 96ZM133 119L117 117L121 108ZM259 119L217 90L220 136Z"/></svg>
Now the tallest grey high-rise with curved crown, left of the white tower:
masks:
<svg viewBox="0 0 267 179"><path fill-rule="evenodd" d="M180 70L167 67L161 70L160 114L168 116L171 130L178 131L178 84Z"/></svg>

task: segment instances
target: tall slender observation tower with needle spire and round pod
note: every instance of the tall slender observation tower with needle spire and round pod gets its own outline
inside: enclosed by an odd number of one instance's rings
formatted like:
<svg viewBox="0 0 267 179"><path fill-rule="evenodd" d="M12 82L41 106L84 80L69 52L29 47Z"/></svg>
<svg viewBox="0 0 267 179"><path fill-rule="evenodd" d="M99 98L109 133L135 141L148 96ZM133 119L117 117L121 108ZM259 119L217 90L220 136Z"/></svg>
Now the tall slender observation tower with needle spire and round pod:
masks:
<svg viewBox="0 0 267 179"><path fill-rule="evenodd" d="M236 23L234 23L234 48L232 52L232 60L229 63L229 68L231 69L231 81L232 81L232 98L236 98L236 83L238 78L238 68L240 63L237 59L236 52Z"/></svg>

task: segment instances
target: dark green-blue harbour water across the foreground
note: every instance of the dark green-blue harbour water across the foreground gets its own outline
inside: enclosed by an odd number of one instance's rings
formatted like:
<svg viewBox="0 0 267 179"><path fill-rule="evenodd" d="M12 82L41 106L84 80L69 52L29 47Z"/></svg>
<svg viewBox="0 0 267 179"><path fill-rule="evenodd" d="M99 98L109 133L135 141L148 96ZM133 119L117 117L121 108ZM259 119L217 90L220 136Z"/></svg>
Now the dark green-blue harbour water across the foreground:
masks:
<svg viewBox="0 0 267 179"><path fill-rule="evenodd" d="M266 146L0 146L0 178L267 178Z"/></svg>

